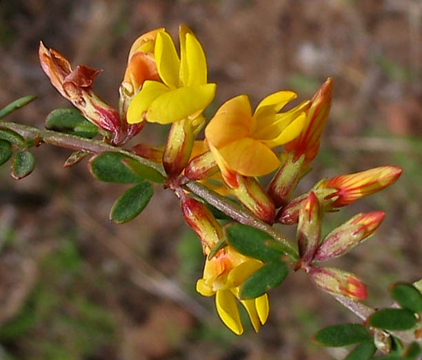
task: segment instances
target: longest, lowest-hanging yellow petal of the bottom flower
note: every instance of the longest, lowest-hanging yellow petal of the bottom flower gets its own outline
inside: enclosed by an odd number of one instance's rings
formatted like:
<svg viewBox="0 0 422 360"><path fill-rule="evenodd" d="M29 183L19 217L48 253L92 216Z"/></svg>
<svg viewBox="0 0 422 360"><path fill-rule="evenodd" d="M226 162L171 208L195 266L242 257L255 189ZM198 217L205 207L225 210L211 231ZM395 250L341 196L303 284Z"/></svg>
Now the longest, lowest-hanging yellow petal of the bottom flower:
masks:
<svg viewBox="0 0 422 360"><path fill-rule="evenodd" d="M215 294L215 306L219 317L225 326L234 334L241 335L243 326L241 323L239 309L237 308L236 298L230 290L219 290Z"/></svg>

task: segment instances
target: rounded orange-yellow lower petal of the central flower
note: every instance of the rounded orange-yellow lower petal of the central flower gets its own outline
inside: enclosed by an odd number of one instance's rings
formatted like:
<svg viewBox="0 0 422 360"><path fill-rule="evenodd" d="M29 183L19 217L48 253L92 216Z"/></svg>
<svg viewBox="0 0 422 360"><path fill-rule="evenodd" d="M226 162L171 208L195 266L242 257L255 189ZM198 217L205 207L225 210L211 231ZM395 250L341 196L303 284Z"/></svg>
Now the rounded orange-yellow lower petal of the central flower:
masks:
<svg viewBox="0 0 422 360"><path fill-rule="evenodd" d="M228 167L245 177L261 177L279 166L279 159L268 146L245 137L219 150Z"/></svg>

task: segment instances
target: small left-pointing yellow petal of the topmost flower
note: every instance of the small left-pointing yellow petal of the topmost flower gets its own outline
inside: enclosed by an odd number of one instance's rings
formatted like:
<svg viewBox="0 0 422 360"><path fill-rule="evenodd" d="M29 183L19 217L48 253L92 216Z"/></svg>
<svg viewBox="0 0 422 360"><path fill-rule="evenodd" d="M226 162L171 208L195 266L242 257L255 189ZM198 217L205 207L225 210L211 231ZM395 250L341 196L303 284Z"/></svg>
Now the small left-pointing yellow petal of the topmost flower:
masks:
<svg viewBox="0 0 422 360"><path fill-rule="evenodd" d="M165 92L168 92L168 87L163 83L150 80L145 81L141 91L129 103L128 113L126 114L128 123L140 123L143 121L143 112L148 110L152 101Z"/></svg>

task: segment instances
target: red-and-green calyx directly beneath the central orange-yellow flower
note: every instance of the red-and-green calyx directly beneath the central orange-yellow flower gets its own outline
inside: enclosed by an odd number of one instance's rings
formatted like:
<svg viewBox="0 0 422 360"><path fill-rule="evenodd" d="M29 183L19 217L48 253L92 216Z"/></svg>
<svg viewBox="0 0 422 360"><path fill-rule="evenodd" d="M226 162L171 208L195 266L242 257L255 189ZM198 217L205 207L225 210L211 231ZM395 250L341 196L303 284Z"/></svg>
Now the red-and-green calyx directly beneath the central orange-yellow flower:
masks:
<svg viewBox="0 0 422 360"><path fill-rule="evenodd" d="M237 188L232 188L234 194L246 208L266 223L274 223L275 206L268 194L254 177L243 177L237 174Z"/></svg>

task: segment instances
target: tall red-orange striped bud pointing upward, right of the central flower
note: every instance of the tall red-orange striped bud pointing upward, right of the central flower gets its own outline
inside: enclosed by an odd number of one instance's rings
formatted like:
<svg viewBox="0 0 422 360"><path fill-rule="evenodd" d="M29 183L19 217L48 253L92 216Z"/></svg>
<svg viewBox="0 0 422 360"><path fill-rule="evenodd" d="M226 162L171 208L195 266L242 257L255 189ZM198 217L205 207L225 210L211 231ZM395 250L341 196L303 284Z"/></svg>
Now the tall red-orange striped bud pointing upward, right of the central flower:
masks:
<svg viewBox="0 0 422 360"><path fill-rule="evenodd" d="M332 102L332 79L328 78L311 99L306 113L305 126L299 137L286 143L284 151L294 154L294 159L305 155L304 164L310 163L318 154L319 141L328 118Z"/></svg>

